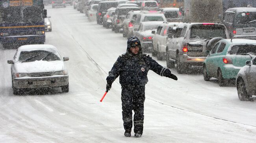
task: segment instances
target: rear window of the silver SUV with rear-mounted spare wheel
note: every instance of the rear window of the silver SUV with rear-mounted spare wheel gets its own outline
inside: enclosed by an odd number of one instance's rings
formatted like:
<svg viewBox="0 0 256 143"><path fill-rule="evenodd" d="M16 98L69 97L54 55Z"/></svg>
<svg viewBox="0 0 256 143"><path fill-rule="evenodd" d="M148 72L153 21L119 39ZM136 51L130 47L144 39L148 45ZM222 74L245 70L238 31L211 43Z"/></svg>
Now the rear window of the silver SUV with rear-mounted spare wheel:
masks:
<svg viewBox="0 0 256 143"><path fill-rule="evenodd" d="M220 26L192 26L190 39L211 39L222 37L226 39L225 27Z"/></svg>

